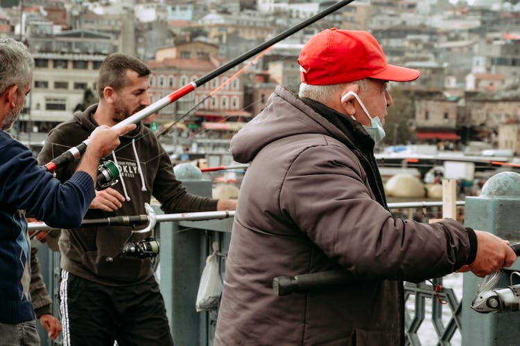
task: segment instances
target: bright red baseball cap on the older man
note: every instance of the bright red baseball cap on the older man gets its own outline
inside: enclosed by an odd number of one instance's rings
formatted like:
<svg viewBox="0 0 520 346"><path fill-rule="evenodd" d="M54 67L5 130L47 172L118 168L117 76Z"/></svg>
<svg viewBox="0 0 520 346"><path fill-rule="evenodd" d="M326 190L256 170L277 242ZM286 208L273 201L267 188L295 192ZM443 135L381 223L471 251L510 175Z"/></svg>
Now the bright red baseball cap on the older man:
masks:
<svg viewBox="0 0 520 346"><path fill-rule="evenodd" d="M309 39L298 57L302 82L328 85L364 78L409 82L420 72L388 64L374 36L367 31L323 30Z"/></svg>

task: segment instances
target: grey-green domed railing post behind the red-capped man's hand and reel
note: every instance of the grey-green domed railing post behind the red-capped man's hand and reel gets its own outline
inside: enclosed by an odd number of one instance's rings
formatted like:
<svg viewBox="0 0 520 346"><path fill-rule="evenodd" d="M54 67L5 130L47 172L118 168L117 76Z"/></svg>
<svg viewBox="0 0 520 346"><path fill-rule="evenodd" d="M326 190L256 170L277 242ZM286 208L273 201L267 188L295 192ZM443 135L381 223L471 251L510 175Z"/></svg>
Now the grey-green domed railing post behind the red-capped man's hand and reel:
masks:
<svg viewBox="0 0 520 346"><path fill-rule="evenodd" d="M487 180L479 197L466 197L465 226L486 230L503 239L520 239L520 174L501 172ZM510 285L510 273L520 263L503 269L497 288ZM462 294L462 346L518 345L520 312L478 313L471 309L480 277L465 273ZM518 282L516 282L518 283Z"/></svg>

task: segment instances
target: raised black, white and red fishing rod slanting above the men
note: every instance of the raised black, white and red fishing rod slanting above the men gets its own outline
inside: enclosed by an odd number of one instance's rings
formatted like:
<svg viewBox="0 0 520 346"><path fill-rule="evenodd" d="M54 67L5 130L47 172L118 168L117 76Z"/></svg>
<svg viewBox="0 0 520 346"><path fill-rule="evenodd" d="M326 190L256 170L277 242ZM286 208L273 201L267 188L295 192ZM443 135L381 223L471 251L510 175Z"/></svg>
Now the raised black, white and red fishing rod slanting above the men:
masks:
<svg viewBox="0 0 520 346"><path fill-rule="evenodd" d="M175 102L176 100L182 98L182 96L187 95L188 93L191 93L191 91L198 88L198 86L205 84L209 80L212 80L213 78L217 77L218 75L232 69L234 66L241 64L241 62L244 62L245 60L248 60L250 57L253 57L254 55L257 55L258 53L260 53L261 51L264 51L266 48L272 46L273 44L280 42L282 39L286 39L287 37L293 35L297 31L302 30L302 28L305 28L306 26L313 24L315 21L318 21L319 19L322 19L323 17L330 15L332 12L342 8L343 6L348 5L352 1L354 1L354 0L338 1L337 3L330 6L329 8L326 8L322 12L319 12L316 15L313 15L313 17L310 17L309 19L302 21L300 24L293 26L293 28L288 28L283 33L280 33L279 35L272 37L272 39L269 39L268 41L264 42L263 44L260 44L259 46L252 48L250 51L243 53L239 57L236 57L234 60L227 62L227 64L220 66L218 69L215 69L214 71L207 73L206 75L202 76L202 78L182 86L180 89L173 91L173 93L165 96L164 98L158 100L157 102L154 102L153 104L150 104L150 106L146 107L145 109L141 109L141 111L138 111L134 115L117 123L116 125L114 125L114 127L119 128L119 127L123 127L123 126L129 125L129 124L137 124L137 122L143 120L144 118L147 118L148 116L152 115L153 113L156 113L160 109L163 109L168 104L171 104L171 103ZM57 168L62 167L63 165L66 165L67 163L73 162L74 160L76 160L76 158L79 158L85 152L85 149L87 149L87 145L89 145L89 143L90 143L90 140L88 138L86 140L83 140L82 143L80 143L76 147L72 147L71 149L67 150L67 152L64 152L60 156L54 158L51 162L44 165L44 167L49 172L54 172L54 170L56 170Z"/></svg>

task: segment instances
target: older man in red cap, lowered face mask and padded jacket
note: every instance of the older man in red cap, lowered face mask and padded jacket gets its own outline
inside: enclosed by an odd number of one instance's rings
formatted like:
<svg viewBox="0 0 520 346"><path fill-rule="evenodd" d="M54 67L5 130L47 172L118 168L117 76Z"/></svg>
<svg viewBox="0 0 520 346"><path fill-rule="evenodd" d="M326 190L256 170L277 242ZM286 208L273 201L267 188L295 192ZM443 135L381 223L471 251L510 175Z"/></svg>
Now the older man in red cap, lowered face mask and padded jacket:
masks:
<svg viewBox="0 0 520 346"><path fill-rule="evenodd" d="M392 66L365 31L324 30L300 53L300 97L281 86L232 139L241 185L214 345L404 345L403 280L483 276L516 255L454 220L397 219L373 155ZM272 279L344 270L343 286L278 296Z"/></svg>

